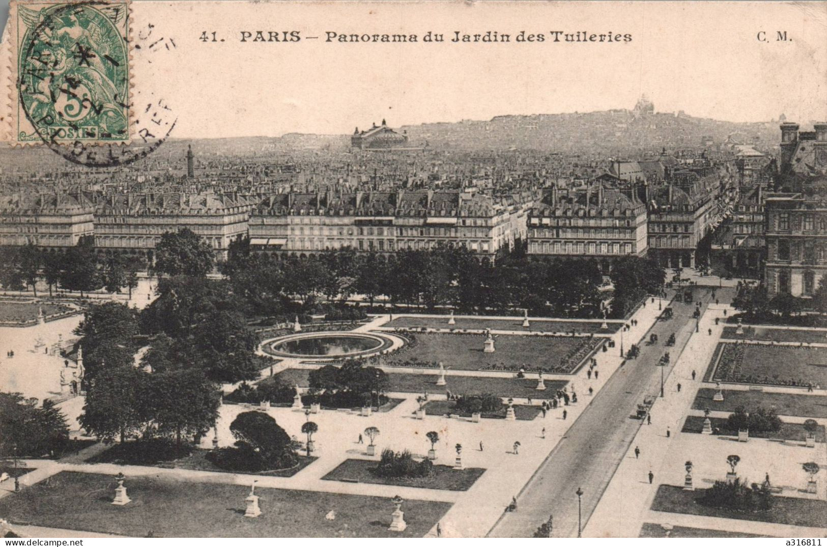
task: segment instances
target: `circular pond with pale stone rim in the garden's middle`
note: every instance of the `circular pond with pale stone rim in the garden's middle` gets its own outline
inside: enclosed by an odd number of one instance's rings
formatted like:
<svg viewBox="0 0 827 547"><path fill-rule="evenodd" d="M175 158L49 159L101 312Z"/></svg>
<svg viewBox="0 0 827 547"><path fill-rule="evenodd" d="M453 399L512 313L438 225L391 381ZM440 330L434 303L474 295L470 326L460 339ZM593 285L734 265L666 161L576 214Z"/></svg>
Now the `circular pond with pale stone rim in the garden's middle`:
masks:
<svg viewBox="0 0 827 547"><path fill-rule="evenodd" d="M294 334L270 343L267 353L284 357L354 357L387 348L390 342L384 337L363 333Z"/></svg>

